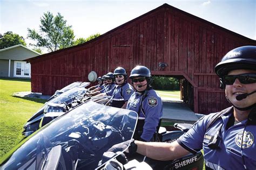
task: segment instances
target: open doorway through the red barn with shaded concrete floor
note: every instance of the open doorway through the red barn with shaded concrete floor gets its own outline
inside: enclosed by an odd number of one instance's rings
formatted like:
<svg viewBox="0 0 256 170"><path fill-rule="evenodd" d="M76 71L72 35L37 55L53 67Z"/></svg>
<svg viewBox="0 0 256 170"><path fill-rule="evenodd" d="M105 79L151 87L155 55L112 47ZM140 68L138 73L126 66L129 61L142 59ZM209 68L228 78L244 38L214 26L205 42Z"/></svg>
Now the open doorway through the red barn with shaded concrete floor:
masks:
<svg viewBox="0 0 256 170"><path fill-rule="evenodd" d="M183 75L154 75L153 79L152 86L163 102L163 122L193 124L198 120L193 108L193 86Z"/></svg>

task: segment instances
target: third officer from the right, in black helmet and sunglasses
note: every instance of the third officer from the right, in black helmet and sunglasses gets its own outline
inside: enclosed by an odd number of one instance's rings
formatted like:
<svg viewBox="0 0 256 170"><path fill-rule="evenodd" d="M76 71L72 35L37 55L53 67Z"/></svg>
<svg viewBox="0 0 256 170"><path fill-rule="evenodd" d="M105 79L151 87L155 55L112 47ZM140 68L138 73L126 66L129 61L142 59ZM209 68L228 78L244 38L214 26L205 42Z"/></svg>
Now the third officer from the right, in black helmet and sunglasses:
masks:
<svg viewBox="0 0 256 170"><path fill-rule="evenodd" d="M126 108L127 102L133 93L132 86L126 82L127 74L123 67L114 69L116 87L97 96L111 96L109 104L116 108Z"/></svg>

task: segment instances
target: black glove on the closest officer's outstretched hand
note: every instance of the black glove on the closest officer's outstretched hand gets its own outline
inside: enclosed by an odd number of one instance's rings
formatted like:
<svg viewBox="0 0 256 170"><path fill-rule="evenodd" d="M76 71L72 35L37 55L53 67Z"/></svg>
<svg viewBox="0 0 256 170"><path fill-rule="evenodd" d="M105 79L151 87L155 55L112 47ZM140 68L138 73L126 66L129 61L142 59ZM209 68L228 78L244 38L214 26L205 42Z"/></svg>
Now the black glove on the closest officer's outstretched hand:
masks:
<svg viewBox="0 0 256 170"><path fill-rule="evenodd" d="M131 143L131 144L130 144ZM122 143L119 143L119 144L116 144L116 145L113 145L109 150L107 151L110 151L110 152L122 152L124 151L130 144L130 147L129 147L129 153L130 154L133 154L137 151L137 145L134 143L134 139L131 139L131 140L127 140L127 141L124 141Z"/></svg>

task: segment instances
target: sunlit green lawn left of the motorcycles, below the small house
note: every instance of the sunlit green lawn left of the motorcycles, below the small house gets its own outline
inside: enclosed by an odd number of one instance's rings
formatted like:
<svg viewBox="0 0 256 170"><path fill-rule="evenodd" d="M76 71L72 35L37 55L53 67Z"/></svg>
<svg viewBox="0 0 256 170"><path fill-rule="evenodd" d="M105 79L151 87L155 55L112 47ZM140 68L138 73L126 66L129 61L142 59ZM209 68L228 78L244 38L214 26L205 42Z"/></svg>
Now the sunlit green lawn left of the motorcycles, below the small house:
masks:
<svg viewBox="0 0 256 170"><path fill-rule="evenodd" d="M23 125L45 100L12 96L31 91L30 80L0 79L0 159L22 139Z"/></svg>

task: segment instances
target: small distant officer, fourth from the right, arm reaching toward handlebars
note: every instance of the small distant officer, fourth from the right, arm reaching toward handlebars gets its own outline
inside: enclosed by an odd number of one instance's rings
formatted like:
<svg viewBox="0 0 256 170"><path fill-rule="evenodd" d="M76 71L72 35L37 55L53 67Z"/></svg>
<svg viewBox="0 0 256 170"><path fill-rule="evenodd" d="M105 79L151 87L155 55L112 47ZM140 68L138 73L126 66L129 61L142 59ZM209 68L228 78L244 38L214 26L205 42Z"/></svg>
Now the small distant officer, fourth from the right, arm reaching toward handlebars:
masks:
<svg viewBox="0 0 256 170"><path fill-rule="evenodd" d="M104 88L100 88L100 90L98 91L94 91L88 95L91 95L91 96L96 96L98 94L101 94L101 93L105 93L106 91L109 91L111 90L112 88L114 88L115 84L114 84L114 75L112 72L109 72L105 75L105 82L106 82L106 85L104 86ZM104 82L104 81L103 81ZM87 94L86 94L87 95Z"/></svg>

